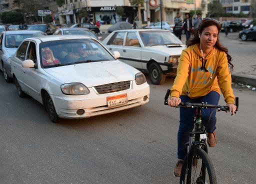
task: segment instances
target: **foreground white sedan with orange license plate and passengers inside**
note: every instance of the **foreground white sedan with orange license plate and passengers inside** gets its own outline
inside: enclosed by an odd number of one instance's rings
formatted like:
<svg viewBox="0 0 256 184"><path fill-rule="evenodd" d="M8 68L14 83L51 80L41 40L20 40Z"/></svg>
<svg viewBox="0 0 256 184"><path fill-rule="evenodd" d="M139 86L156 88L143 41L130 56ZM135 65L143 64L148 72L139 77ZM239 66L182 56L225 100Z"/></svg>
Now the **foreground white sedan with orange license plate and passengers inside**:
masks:
<svg viewBox="0 0 256 184"><path fill-rule="evenodd" d="M42 103L49 119L84 118L140 106L149 100L144 74L82 35L26 38L11 57L20 97Z"/></svg>

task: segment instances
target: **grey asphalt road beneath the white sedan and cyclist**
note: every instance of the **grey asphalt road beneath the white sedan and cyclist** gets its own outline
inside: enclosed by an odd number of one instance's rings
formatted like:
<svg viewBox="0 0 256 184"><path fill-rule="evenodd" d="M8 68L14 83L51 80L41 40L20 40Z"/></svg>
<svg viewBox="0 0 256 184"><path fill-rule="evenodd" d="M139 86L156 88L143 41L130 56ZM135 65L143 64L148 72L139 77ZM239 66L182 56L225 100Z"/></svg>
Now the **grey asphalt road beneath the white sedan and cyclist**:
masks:
<svg viewBox="0 0 256 184"><path fill-rule="evenodd" d="M1 75L0 183L178 183L178 109L163 105L173 78L150 84L144 106L52 123L40 103L18 97ZM209 156L218 183L255 183L256 93L234 91L239 111L217 113L219 140Z"/></svg>

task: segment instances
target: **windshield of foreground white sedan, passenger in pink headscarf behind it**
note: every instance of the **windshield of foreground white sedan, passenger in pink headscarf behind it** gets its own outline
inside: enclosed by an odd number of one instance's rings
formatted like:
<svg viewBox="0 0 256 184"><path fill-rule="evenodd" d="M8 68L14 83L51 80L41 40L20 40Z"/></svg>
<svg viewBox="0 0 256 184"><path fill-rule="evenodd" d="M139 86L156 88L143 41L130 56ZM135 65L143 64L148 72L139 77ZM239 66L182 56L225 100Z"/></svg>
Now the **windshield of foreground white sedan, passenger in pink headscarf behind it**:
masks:
<svg viewBox="0 0 256 184"><path fill-rule="evenodd" d="M40 57L43 67L115 60L93 39L64 39L40 43Z"/></svg>

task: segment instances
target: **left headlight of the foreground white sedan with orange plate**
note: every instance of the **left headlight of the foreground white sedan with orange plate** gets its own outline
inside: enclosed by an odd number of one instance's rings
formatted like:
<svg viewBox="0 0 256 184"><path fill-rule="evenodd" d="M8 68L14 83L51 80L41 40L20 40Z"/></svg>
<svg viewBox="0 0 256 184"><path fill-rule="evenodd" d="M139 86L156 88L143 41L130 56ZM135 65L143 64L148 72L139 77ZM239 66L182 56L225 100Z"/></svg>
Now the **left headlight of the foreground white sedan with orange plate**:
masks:
<svg viewBox="0 0 256 184"><path fill-rule="evenodd" d="M82 83L65 83L60 88L64 94L82 95L90 93L89 89Z"/></svg>

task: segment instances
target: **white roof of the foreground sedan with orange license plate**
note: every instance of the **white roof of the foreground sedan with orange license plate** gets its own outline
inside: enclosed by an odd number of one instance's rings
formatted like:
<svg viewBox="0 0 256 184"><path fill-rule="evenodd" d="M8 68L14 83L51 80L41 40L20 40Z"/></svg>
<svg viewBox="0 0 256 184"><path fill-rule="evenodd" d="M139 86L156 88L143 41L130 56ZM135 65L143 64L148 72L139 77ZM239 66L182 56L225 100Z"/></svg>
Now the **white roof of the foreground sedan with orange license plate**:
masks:
<svg viewBox="0 0 256 184"><path fill-rule="evenodd" d="M28 38L26 38L28 39ZM25 40L26 40L25 39ZM42 36L42 37L33 37L29 39L39 39L42 42L46 41L56 41L56 40L63 40L63 39L91 39L90 36L85 36L85 35L47 35L47 36Z"/></svg>

